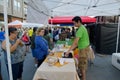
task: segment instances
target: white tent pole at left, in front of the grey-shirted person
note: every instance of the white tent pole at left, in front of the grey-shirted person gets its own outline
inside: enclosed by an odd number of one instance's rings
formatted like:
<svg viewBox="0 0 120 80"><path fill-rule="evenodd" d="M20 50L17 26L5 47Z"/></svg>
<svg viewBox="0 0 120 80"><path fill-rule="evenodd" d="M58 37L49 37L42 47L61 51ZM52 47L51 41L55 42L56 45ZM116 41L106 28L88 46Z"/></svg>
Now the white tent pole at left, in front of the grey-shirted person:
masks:
<svg viewBox="0 0 120 80"><path fill-rule="evenodd" d="M11 56L10 56L10 48L9 48L9 37L8 37L8 18L7 18L7 0L4 0L4 22L5 22L5 35L6 35L6 48L7 48L7 61L8 61L8 72L9 72L9 80L13 80L12 76L12 67L11 67Z"/></svg>

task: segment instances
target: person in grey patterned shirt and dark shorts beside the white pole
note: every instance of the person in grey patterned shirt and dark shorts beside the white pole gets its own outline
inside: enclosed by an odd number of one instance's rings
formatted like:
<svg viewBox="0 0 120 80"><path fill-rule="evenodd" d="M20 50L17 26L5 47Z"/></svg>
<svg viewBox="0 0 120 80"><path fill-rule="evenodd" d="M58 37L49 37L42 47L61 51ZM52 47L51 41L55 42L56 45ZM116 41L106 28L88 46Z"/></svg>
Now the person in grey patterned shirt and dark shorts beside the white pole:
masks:
<svg viewBox="0 0 120 80"><path fill-rule="evenodd" d="M25 59L24 45L23 42L17 38L18 32L16 28L10 27L8 31L13 80L21 80L23 73L23 63ZM2 42L2 50L5 55L6 66L8 67L6 40Z"/></svg>

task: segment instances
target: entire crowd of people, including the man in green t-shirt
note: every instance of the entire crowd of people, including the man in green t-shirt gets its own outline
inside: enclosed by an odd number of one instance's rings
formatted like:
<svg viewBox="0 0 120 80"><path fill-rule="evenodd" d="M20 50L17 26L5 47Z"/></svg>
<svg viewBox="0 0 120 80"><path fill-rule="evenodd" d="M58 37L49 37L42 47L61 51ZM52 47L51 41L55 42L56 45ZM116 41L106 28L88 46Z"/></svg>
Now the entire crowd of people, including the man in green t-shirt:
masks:
<svg viewBox="0 0 120 80"><path fill-rule="evenodd" d="M51 53L57 40L65 40L66 38L70 39L71 37L75 37L75 40L65 56L67 57L71 50L74 50L75 48L79 49L78 68L80 69L82 80L86 80L87 53L90 51L89 35L87 29L82 25L80 17L76 16L72 21L74 25L78 27L77 32L74 27L72 27L72 29L63 27L34 27L22 30L10 27L8 30L13 80L22 80L23 63L25 56L27 55L26 53L30 52L30 50L34 57L35 66L39 67L45 60L46 56ZM2 35L0 36L0 42L2 44L1 50L4 52L5 64L8 68L6 40L3 30L0 35Z"/></svg>

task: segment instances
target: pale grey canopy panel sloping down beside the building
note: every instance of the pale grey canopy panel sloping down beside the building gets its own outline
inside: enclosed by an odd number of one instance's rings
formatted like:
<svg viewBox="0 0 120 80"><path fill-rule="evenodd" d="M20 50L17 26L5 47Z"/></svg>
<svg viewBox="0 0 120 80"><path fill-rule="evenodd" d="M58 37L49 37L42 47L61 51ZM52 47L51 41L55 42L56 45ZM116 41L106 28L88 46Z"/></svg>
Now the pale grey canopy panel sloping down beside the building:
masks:
<svg viewBox="0 0 120 80"><path fill-rule="evenodd" d="M41 0L25 0L27 4L27 22L48 24L49 11Z"/></svg>

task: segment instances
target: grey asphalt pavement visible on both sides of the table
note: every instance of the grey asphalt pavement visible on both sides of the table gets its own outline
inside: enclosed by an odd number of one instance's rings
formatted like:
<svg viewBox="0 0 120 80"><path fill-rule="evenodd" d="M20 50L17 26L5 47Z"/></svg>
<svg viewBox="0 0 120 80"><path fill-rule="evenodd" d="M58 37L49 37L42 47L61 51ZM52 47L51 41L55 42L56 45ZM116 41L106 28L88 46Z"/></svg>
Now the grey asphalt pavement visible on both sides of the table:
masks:
<svg viewBox="0 0 120 80"><path fill-rule="evenodd" d="M1 69L4 70L4 67ZM29 52L25 58L22 80L32 80L36 69L32 54ZM5 74L4 71L2 74ZM94 64L88 65L87 80L120 80L120 70L112 66L111 55L95 54Z"/></svg>

